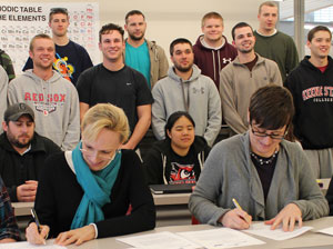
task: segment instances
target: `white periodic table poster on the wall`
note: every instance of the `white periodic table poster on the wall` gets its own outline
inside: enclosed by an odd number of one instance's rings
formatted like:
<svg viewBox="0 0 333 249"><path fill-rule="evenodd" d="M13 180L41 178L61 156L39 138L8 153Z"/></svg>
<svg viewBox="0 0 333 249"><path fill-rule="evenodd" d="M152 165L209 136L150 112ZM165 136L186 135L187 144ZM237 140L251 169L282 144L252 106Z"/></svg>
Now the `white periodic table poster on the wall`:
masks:
<svg viewBox="0 0 333 249"><path fill-rule="evenodd" d="M38 33L52 37L48 26L51 8L67 8L70 16L69 38L83 46L94 64L100 62L98 47L99 4L97 2L0 3L0 49L4 50L20 74L29 57L29 42Z"/></svg>

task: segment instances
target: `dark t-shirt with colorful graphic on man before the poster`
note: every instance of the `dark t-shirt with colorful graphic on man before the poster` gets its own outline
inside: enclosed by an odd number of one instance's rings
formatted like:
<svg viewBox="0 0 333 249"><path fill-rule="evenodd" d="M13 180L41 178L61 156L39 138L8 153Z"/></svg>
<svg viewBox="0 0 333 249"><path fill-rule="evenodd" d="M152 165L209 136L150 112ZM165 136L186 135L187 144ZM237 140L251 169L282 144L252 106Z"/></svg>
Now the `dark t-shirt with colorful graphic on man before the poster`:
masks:
<svg viewBox="0 0 333 249"><path fill-rule="evenodd" d="M53 69L60 72L63 78L73 82L73 84L77 84L81 72L92 66L91 59L82 46L71 40L65 46L56 44ZM33 62L31 58L29 58L22 70L26 71L32 68Z"/></svg>

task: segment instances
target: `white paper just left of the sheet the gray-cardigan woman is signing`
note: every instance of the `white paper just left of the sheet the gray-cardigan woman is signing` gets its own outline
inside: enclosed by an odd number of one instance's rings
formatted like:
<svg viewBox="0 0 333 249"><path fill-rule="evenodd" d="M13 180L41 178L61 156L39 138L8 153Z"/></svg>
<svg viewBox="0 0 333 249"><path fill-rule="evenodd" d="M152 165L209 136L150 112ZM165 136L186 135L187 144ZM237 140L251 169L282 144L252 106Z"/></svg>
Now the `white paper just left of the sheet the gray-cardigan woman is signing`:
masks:
<svg viewBox="0 0 333 249"><path fill-rule="evenodd" d="M178 235L202 245L208 249L245 247L265 243L264 241L230 228L178 232Z"/></svg>

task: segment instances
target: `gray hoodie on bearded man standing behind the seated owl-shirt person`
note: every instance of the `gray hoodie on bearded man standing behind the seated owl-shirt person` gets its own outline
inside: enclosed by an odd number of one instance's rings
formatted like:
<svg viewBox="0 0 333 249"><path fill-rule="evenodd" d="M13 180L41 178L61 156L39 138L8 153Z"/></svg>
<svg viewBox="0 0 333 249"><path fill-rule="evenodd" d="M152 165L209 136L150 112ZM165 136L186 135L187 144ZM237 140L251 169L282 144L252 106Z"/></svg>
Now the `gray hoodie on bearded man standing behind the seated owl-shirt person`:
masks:
<svg viewBox="0 0 333 249"><path fill-rule="evenodd" d="M195 135L204 137L209 146L213 145L221 129L221 99L214 82L202 76L195 64L191 78L185 81L170 67L168 77L152 89L152 129L159 140L165 137L164 126L169 116L186 111L188 104L195 122Z"/></svg>

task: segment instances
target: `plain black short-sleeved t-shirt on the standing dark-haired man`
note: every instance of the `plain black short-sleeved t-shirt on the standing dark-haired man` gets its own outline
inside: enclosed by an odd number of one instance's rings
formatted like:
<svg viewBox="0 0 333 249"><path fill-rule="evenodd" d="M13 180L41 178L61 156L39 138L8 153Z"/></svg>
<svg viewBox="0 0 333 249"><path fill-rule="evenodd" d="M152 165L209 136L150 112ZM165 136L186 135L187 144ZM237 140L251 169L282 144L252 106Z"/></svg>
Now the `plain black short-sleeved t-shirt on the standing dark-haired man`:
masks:
<svg viewBox="0 0 333 249"><path fill-rule="evenodd" d="M109 102L122 108L131 131L138 122L137 107L153 102L144 76L127 66L119 71L110 71L103 64L90 68L80 76L77 89L80 102L89 107Z"/></svg>

